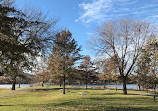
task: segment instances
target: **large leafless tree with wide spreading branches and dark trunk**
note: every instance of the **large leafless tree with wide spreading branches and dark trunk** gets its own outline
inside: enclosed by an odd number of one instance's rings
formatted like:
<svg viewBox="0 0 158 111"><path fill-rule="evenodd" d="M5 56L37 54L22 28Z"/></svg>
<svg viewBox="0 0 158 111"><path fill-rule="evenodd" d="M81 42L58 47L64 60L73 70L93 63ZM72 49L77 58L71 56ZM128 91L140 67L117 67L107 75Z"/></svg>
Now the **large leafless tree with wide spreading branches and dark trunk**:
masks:
<svg viewBox="0 0 158 111"><path fill-rule="evenodd" d="M134 69L140 49L153 30L145 21L120 19L100 26L98 36L90 41L97 53L115 61L123 82L123 94L127 94L127 77Z"/></svg>

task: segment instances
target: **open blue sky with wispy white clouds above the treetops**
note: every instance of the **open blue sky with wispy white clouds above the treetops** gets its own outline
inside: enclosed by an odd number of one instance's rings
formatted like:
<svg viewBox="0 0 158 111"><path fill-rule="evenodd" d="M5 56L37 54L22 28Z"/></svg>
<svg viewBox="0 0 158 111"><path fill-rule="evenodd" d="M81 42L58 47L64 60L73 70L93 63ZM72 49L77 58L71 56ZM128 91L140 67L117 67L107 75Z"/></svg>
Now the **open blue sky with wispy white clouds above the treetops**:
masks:
<svg viewBox="0 0 158 111"><path fill-rule="evenodd" d="M120 18L158 22L158 0L16 0L16 6L35 7L49 18L59 18L58 27L68 29L83 55L95 57L88 41L96 28L109 20Z"/></svg>

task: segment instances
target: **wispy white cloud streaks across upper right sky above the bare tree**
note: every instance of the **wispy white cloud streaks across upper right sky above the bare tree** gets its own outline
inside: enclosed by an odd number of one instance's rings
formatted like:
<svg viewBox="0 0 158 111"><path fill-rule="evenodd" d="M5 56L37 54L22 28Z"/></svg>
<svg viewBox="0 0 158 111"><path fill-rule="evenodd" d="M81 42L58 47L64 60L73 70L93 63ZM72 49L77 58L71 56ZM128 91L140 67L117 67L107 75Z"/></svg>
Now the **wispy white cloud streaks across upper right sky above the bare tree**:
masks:
<svg viewBox="0 0 158 111"><path fill-rule="evenodd" d="M79 4L80 17L75 22L103 22L121 17L151 18L158 15L158 2L139 0L91 0ZM154 17L155 19L157 17ZM151 19L150 19L151 20Z"/></svg>

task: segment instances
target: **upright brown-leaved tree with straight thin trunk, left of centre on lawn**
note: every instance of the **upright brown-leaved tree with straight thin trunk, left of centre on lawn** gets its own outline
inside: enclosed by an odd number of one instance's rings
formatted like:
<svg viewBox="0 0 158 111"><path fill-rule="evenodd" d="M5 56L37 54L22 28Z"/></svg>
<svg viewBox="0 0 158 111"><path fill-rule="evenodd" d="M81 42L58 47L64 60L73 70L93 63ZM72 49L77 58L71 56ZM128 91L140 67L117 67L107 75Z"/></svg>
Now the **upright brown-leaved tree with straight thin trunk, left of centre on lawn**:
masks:
<svg viewBox="0 0 158 111"><path fill-rule="evenodd" d="M80 59L77 42L72 38L69 31L63 30L57 33L53 41L52 53L49 57L48 69L51 74L55 74L63 81L63 94L65 94L65 81L71 74L71 68Z"/></svg>

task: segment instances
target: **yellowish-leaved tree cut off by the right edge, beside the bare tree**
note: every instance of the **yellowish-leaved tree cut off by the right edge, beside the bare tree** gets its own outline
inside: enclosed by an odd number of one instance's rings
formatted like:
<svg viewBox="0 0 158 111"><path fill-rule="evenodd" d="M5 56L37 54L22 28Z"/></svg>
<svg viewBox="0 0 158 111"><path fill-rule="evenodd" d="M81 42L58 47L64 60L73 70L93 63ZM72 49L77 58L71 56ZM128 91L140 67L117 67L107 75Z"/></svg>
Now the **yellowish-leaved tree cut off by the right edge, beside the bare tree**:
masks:
<svg viewBox="0 0 158 111"><path fill-rule="evenodd" d="M152 35L137 62L137 80L143 88L152 87L154 94L158 84L158 40ZM155 101L155 96L154 96Z"/></svg>

